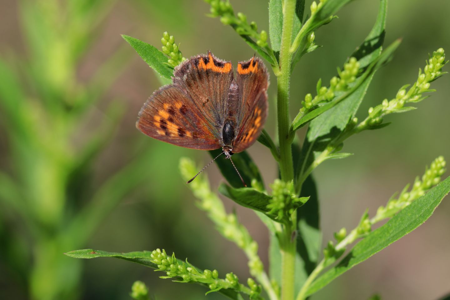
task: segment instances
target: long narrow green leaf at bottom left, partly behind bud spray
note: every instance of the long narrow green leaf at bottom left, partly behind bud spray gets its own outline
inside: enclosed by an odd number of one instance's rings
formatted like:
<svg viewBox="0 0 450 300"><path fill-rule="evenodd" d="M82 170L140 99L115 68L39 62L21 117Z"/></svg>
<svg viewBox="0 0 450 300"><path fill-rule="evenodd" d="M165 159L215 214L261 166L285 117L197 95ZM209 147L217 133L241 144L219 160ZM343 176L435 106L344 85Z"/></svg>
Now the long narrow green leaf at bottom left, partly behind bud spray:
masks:
<svg viewBox="0 0 450 300"><path fill-rule="evenodd" d="M150 267L153 269L158 269L157 265L150 261L151 260L150 255L152 254L152 251L134 251L134 252L128 252L128 253L118 253L118 252L107 252L107 251L102 251L102 250L83 249L83 250L69 251L64 254L67 256L73 257L73 258L83 258L83 259L91 259L91 258L97 258L97 257L114 257L114 258L119 258L122 260L132 261L137 264L142 264L146 267ZM180 264L184 263L182 260L178 260L178 262ZM198 268L195 268L195 269L197 269L199 272L202 272L202 270L200 270ZM203 284L200 282L196 282L196 283L198 283L202 286L205 286L209 289L207 284ZM229 297L230 299L234 299L234 300L242 299L242 297L240 297L240 294L238 294L236 291L233 291L233 290L221 289L220 291L217 291L217 292Z"/></svg>

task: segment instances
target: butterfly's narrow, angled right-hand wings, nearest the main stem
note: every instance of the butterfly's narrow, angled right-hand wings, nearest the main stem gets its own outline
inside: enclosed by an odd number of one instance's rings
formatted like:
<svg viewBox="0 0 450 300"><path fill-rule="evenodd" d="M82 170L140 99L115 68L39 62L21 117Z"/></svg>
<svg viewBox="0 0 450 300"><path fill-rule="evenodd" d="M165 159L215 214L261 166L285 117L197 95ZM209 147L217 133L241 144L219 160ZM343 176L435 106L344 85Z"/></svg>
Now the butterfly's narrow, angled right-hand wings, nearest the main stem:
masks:
<svg viewBox="0 0 450 300"><path fill-rule="evenodd" d="M238 153L255 143L266 122L269 73L261 59L253 57L239 62L235 84L237 97L230 97L226 114L235 116L237 132L233 152Z"/></svg>

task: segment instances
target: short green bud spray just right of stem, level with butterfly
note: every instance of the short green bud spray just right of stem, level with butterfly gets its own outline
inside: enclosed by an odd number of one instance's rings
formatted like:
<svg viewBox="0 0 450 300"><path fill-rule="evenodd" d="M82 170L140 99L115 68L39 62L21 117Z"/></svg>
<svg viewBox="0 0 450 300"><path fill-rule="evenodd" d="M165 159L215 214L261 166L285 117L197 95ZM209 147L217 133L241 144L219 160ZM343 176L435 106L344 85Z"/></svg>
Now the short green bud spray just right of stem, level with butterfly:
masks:
<svg viewBox="0 0 450 300"><path fill-rule="evenodd" d="M314 32L312 34L314 35ZM348 85L356 80L359 70L360 63L356 58L350 58L349 61L344 64L344 69L342 71L338 68L339 77L334 76L331 78L329 88L322 86L322 80L317 82L317 95L313 99L311 94L306 94L305 100L302 101L303 107L311 109L319 103L331 101L335 96L335 92L348 90Z"/></svg>

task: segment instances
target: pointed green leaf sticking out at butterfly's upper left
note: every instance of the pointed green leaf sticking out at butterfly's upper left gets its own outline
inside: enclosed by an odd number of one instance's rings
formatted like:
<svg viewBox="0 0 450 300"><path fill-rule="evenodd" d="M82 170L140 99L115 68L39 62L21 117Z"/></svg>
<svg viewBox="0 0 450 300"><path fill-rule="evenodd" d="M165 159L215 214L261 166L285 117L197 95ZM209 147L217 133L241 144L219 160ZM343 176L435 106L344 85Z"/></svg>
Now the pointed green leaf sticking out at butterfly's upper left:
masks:
<svg viewBox="0 0 450 300"><path fill-rule="evenodd" d="M146 62L159 75L166 77L167 79L170 79L171 76L173 76L173 70L166 64L167 57L164 53L152 45L143 42L142 40L138 40L124 34L122 37L136 50L139 56L144 59L144 62Z"/></svg>

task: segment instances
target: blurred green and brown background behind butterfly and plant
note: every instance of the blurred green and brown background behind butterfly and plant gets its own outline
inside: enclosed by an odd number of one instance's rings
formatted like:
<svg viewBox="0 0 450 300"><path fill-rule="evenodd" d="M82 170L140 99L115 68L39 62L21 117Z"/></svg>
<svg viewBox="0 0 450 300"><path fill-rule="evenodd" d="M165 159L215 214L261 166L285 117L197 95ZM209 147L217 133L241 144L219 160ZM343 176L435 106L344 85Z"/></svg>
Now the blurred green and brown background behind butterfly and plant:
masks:
<svg viewBox="0 0 450 300"><path fill-rule="evenodd" d="M268 1L231 2L268 30ZM324 47L297 65L293 116L317 80L329 81L365 38L377 8L375 0L354 1L315 33ZM214 231L178 175L180 157L202 166L207 153L158 142L135 129L140 106L159 82L120 36L160 47L168 31L185 57L207 49L233 62L251 57L253 50L231 28L205 16L208 10L200 0L0 0L0 299L130 299L138 279L157 299L204 295L202 287L159 279L137 264L63 255L88 247L160 247L200 268L248 276L244 255ZM449 11L450 1L390 1L386 43L398 37L403 42L376 74L360 116L414 82L428 53L450 51ZM349 139L344 150L354 156L315 171L324 241L343 226L353 228L367 207L374 213L438 155L450 160L450 76L432 88L437 92L419 109L389 116L389 127ZM266 183L272 182L276 169L267 148L257 143L249 152ZM215 166L207 174L214 187L223 180ZM267 265L266 228L252 211L224 201L259 242ZM449 216L445 199L423 226L312 299L379 293L383 299L422 300L450 292Z"/></svg>

